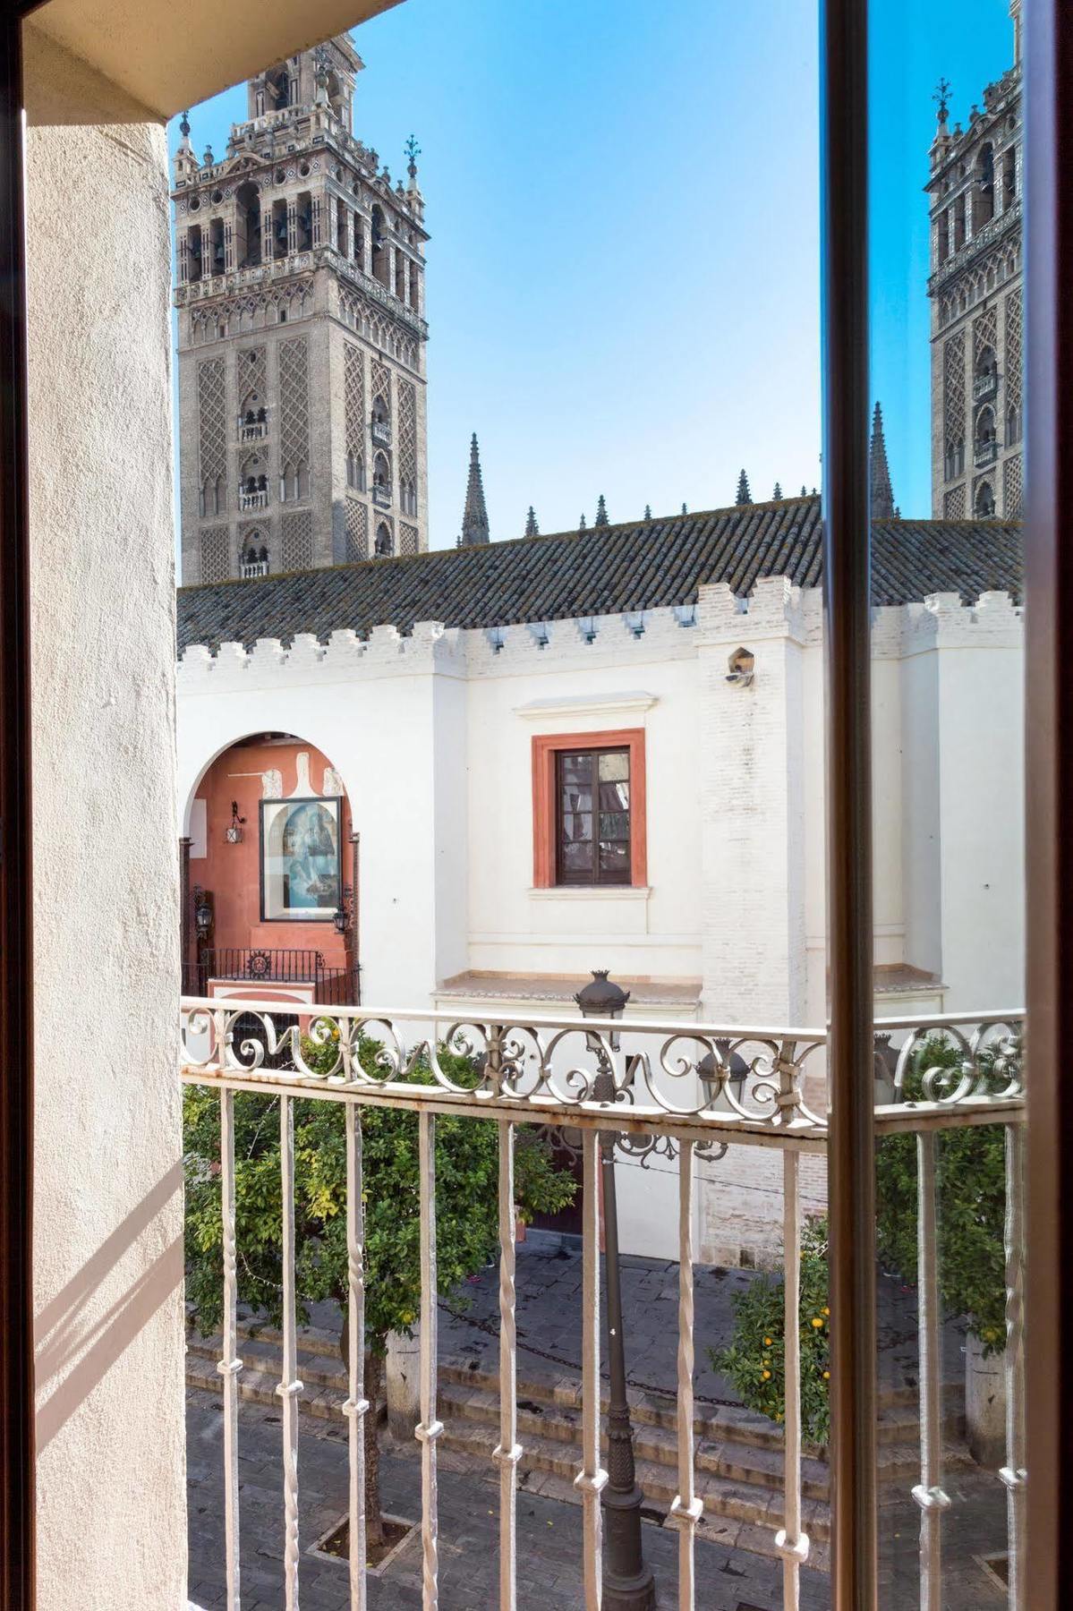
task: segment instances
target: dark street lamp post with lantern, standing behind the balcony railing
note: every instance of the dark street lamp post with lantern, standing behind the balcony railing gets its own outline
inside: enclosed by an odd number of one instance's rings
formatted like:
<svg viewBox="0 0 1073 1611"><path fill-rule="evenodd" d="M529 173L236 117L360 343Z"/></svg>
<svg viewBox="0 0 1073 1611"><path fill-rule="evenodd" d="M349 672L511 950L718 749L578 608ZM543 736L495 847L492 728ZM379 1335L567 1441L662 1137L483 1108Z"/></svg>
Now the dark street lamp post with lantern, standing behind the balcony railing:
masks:
<svg viewBox="0 0 1073 1611"><path fill-rule="evenodd" d="M583 1018L620 1018L630 992L607 978L607 970L593 973L591 981L577 992ZM614 1102L615 1081L611 1058L601 1036L590 1036L590 1049L598 1058L598 1075L593 1081L596 1102ZM617 1031L612 1036L617 1050ZM644 1495L636 1485L633 1464L633 1427L625 1385L625 1345L622 1337L622 1273L619 1266L619 1207L615 1199L615 1133L599 1131L599 1163L604 1195L604 1265L607 1278L607 1366L611 1373L611 1402L607 1408L607 1482L601 1495L604 1511L604 1593L606 1611L651 1611L656 1605L656 1582L651 1566L644 1564L641 1543L641 1505Z"/></svg>

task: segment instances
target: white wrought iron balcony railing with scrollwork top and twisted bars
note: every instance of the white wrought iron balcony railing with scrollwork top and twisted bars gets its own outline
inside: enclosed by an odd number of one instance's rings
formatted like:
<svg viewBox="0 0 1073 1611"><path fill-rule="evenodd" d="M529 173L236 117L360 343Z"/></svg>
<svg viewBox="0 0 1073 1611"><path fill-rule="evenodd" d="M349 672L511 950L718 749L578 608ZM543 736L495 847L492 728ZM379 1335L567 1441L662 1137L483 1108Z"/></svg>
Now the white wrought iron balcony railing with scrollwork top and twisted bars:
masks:
<svg viewBox="0 0 1073 1611"><path fill-rule="evenodd" d="M274 1017L276 1015L276 1017ZM640 1153L659 1150L675 1160L678 1178L678 1353L677 1453L678 1492L670 1522L680 1530L678 1606L694 1606L696 1530L704 1503L698 1497L694 1461L694 1220L696 1165L719 1158L727 1145L777 1149L783 1157L781 1229L785 1249L783 1371L785 1439L781 1508L773 1506L773 1548L783 1561L783 1606L796 1611L801 1566L810 1558L802 1510L801 1408L801 1160L826 1149L823 1031L749 1029L656 1021L530 1017L524 1023L458 1021L435 1012L374 1012L358 1007L303 1007L306 1031L334 1046L330 1068L309 1066L293 1021L277 1023L279 1004L256 999L182 1002L180 1078L216 1087L221 1104L221 1203L224 1245L224 1318L219 1374L224 1394L224 1550L227 1605L238 1605L238 1397L237 1356L238 1260L235 1231L235 1092L263 1092L279 1100L282 1171L282 1505L285 1524L284 1587L287 1605L298 1603L298 1398L295 1316L295 1150L293 1104L319 1099L345 1105L346 1250L348 1250L348 1398L350 1421L350 1577L351 1605L364 1605L364 1435L371 1405L364 1382L364 1210L362 1113L377 1107L416 1115L420 1163L420 1421L422 1448L424 1605L437 1605L438 1510L437 1439L437 1179L435 1133L440 1115L498 1128L499 1152L499 1439L488 1460L499 1469L499 1605L517 1600L516 1500L524 1448L516 1403L516 1194L514 1131L517 1124L569 1126L580 1133L582 1207L582 1431L575 1487L583 1505L583 1603L601 1605L601 1458L599 1384L599 1134L614 1131ZM256 1033L251 1033L251 1025ZM942 1605L942 1516L952 1498L944 1489L944 1405L939 1376L942 1311L939 1302L936 1144L957 1126L1000 1124L1005 1136L1005 1385L1007 1448L999 1472L1005 1487L1009 1605L1023 1611L1025 1550L1025 1358L1023 1358L1023 1015L972 1013L928 1020L889 1018L876 1023L876 1087L893 1100L875 1108L880 1137L917 1139L918 1213L918 1416L920 1481L912 1498L920 1506L920 1606ZM375 1041L372 1060L359 1049ZM947 1057L928 1066L941 1042ZM306 1042L308 1044L308 1042ZM469 1058L474 1087L453 1078L443 1052ZM330 1054L332 1055L332 1054ZM420 1066L430 1083L408 1075ZM907 1095L907 1076L914 1075ZM599 1094L612 1092L606 1099ZM627 1318L628 1324L628 1318ZM901 1479L899 1479L901 1481ZM773 1514L780 1510L780 1514Z"/></svg>

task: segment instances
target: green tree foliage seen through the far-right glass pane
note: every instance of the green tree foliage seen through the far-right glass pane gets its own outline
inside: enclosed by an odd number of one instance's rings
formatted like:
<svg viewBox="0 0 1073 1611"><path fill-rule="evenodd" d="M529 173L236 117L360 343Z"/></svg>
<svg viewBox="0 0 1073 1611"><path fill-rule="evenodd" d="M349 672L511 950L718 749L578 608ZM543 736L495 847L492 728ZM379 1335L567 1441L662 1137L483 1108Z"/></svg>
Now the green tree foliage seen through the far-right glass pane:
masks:
<svg viewBox="0 0 1073 1611"><path fill-rule="evenodd" d="M905 1071L907 1100L923 1097L931 1068L957 1070L960 1052L941 1037L925 1041ZM984 1079L988 1063L984 1063ZM936 1144L939 1300L963 1315L983 1352L1005 1347L1005 1131L960 1124ZM876 1147L876 1252L884 1269L917 1281L917 1137L886 1136Z"/></svg>

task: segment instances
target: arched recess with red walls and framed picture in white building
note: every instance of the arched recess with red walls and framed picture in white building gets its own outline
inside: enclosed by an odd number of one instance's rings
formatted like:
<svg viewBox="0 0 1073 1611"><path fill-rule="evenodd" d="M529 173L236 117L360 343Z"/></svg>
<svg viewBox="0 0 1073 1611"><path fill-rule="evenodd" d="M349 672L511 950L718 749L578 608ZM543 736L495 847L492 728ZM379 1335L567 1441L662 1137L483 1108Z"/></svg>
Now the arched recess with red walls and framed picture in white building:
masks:
<svg viewBox="0 0 1073 1611"><path fill-rule="evenodd" d="M340 773L293 733L218 754L188 806L184 992L358 1000L358 836Z"/></svg>

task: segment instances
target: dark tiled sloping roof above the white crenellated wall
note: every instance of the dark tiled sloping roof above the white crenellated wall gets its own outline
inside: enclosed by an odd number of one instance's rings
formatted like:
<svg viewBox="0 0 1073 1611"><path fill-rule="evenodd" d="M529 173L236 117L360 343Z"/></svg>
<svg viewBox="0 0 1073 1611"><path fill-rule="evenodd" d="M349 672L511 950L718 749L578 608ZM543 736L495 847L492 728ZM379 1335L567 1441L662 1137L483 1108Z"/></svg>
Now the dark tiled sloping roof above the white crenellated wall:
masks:
<svg viewBox="0 0 1073 1611"><path fill-rule="evenodd" d="M759 577L820 580L820 499L712 509L548 536L432 549L327 570L179 590L179 648L216 648L298 632L366 633L414 622L499 627L570 615L691 604L698 586L727 582L738 596ZM875 604L991 588L1021 596L1021 527L1007 520L876 520Z"/></svg>

